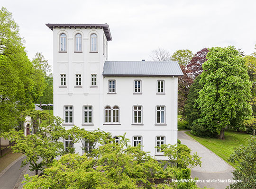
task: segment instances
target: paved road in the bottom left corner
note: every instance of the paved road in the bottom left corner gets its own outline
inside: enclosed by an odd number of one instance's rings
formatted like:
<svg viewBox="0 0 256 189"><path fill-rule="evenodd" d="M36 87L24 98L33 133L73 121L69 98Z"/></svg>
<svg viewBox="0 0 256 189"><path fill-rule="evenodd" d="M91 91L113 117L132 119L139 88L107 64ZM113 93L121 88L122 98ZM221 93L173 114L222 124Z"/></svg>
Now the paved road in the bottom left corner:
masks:
<svg viewBox="0 0 256 189"><path fill-rule="evenodd" d="M1 177L0 177L0 189L13 189L19 175L25 168L20 168L21 162L25 157L18 160L18 162L14 163Z"/></svg>

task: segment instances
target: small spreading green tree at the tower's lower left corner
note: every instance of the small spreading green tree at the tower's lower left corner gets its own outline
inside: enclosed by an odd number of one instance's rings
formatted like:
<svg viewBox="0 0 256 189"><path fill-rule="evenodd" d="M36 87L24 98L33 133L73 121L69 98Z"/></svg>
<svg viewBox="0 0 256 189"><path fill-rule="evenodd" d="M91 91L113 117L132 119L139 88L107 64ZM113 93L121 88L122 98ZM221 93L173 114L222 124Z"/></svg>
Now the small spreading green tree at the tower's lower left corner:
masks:
<svg viewBox="0 0 256 189"><path fill-rule="evenodd" d="M60 142L59 138L64 136L65 129L61 125L62 120L50 116L48 112L31 110L25 112L25 115L32 117L32 126L37 127L35 134L25 136L22 130L11 129L1 136L15 142L15 145L11 146L14 153L26 155L22 166L29 163L30 171L38 174L38 170L50 166L58 155L64 153L63 142Z"/></svg>

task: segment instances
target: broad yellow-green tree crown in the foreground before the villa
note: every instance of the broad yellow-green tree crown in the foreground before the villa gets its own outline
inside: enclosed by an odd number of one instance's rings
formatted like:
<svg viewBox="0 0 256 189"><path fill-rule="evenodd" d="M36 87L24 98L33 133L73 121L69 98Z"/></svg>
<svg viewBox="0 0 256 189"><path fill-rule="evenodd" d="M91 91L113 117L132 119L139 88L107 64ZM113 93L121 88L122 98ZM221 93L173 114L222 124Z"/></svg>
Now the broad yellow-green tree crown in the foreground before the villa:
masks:
<svg viewBox="0 0 256 189"><path fill-rule="evenodd" d="M79 141L83 137L95 139L101 144L84 155L68 154L44 170L40 177L25 176L24 189L82 188L82 189L197 189L195 183L174 183L173 179L190 179L190 170L176 166L164 169L162 163L152 158L141 146L128 145L128 139L120 136L119 143L111 141L109 134L101 131L85 132L74 127L67 134ZM91 135L91 136L90 136ZM183 153L182 153L183 154ZM181 158L186 158L182 156Z"/></svg>

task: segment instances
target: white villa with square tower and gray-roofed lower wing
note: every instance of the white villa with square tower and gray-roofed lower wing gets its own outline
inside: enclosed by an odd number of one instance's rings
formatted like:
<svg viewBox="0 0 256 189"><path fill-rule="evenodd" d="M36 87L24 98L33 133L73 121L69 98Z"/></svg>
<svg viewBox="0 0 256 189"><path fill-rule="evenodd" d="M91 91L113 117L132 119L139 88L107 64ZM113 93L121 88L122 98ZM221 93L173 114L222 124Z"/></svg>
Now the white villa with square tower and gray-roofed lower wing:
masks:
<svg viewBox="0 0 256 189"><path fill-rule="evenodd" d="M54 115L65 128L100 128L116 140L127 133L132 146L165 159L155 146L177 143L178 63L109 61L107 24L46 26L54 35Z"/></svg>

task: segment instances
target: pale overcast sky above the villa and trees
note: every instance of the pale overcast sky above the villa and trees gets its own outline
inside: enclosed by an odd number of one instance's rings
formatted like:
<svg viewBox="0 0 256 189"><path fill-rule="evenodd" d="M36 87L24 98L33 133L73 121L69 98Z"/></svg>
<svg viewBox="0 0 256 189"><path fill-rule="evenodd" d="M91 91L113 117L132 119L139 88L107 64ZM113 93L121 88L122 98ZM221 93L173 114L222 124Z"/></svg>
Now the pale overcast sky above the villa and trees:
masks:
<svg viewBox="0 0 256 189"><path fill-rule="evenodd" d="M30 60L53 65L53 32L45 24L109 24L109 60L150 60L152 50L193 53L207 47L256 44L255 0L0 0L12 12Z"/></svg>

